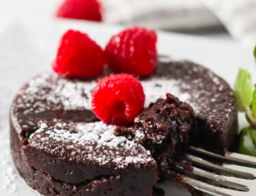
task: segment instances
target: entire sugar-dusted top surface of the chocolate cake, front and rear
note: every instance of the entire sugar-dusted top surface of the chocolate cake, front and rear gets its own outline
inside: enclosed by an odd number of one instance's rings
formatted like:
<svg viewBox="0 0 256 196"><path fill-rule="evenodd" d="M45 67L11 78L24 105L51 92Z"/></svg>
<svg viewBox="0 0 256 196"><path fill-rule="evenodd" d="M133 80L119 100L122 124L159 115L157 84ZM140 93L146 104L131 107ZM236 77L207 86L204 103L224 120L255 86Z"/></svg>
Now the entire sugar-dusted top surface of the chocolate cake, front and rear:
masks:
<svg viewBox="0 0 256 196"><path fill-rule="evenodd" d="M195 117L205 120L213 132L219 132L221 135L226 134L236 118L236 100L227 82L209 69L190 61L160 63L156 74L149 78L142 78L141 84L145 91L145 106L159 98L165 98L166 93L171 93L178 97L180 101L189 103L193 107ZM94 129L98 130L94 135L106 132L113 136L114 128L106 126L102 122L96 122L98 119L91 112L91 91L94 86L96 86L96 80L71 80L59 78L55 73L47 72L25 84L16 95L11 108L12 123L16 126L20 137L26 139L24 144L29 142L29 145L34 145L35 148L42 148L45 152L54 154L55 151L51 148L51 142L46 143L46 139L56 142L56 145L63 146L63 150L68 150L66 144L75 146L81 142L83 145L79 145L79 148L85 148L86 151L89 147L84 144L88 144L89 140L85 140L82 135L85 132L91 134L87 132L92 131L90 126L94 126ZM41 121L43 123L38 125L38 122ZM55 122L55 125L45 124L44 121ZM88 122L94 122L95 124L89 123L86 125ZM64 125L68 125L68 127L65 128ZM83 131L81 131L81 127L84 127ZM100 129L104 131L100 132ZM70 133L71 130L75 133ZM35 134L31 135L32 133ZM68 138L73 141L66 138L67 135L70 135ZM104 134L95 137L106 139ZM126 142L121 142L121 140L124 140L124 138L121 137L117 140L113 136L111 139L111 141L116 141L117 144L125 143L124 146L120 146L120 149L124 150L124 156L121 159L119 157L121 155L117 154L120 150L115 151L118 156L113 157L113 165L121 168L126 167L129 163L136 165L143 161L152 164L152 159L148 157L147 150L142 146L134 146L134 143L129 143L126 140ZM63 145L60 145L61 141ZM101 148L104 149L106 148L105 144L97 143L95 145L102 145ZM108 145L111 144L111 142L108 142ZM112 149L112 147L109 148ZM71 151L72 153L79 153L79 150L77 152ZM75 158L72 157L71 151L68 159L73 160ZM139 156L142 157L133 159L134 154L138 156L139 152L141 152ZM99 151L99 153L103 152ZM88 154L90 154L89 151ZM94 155L96 154L91 154L91 156ZM102 156L104 155L107 154L102 154ZM124 158L125 156L128 158ZM65 156L63 155L63 157ZM76 161L82 161L81 157L76 158ZM96 159L97 164L104 165L108 159Z"/></svg>

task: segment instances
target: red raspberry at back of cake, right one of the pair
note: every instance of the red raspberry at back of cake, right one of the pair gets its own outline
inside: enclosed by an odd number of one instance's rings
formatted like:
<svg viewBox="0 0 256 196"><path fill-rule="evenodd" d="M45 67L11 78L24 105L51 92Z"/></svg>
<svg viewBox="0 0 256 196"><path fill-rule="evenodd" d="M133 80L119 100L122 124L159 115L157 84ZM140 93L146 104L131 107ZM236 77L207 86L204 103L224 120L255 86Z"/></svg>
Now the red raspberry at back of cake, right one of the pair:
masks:
<svg viewBox="0 0 256 196"><path fill-rule="evenodd" d="M145 28L126 29L111 37L105 48L113 71L149 76L158 65L156 32Z"/></svg>

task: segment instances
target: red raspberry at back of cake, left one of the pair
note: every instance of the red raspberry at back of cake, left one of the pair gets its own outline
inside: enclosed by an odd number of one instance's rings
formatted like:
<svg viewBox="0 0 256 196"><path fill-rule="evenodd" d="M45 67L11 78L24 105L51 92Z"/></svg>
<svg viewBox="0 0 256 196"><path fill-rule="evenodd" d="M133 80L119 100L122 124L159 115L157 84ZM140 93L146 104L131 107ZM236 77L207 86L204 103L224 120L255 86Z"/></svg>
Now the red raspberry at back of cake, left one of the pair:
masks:
<svg viewBox="0 0 256 196"><path fill-rule="evenodd" d="M96 78L104 66L104 52L89 36L68 30L61 38L53 70L59 76Z"/></svg>

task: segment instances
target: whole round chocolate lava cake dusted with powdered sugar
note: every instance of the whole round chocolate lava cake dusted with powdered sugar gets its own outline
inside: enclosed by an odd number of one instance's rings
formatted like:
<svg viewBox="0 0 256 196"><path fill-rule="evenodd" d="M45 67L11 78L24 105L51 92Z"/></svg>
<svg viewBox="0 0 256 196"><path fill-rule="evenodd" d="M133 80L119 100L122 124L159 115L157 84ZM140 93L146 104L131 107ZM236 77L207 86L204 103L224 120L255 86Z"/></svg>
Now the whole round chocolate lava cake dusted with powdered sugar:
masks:
<svg viewBox="0 0 256 196"><path fill-rule="evenodd" d="M146 108L131 133L129 127L105 125L91 112L96 80L42 73L25 84L10 111L10 137L14 163L27 184L43 195L150 196L159 176L157 159L171 156L176 144L190 140L221 154L233 146L236 100L227 82L212 71L171 61L160 63L156 74L141 83ZM189 103L195 116L188 104L169 94L165 99L167 93ZM165 104L168 110L162 110ZM170 111L184 118L157 115ZM160 124L161 134L149 122Z"/></svg>

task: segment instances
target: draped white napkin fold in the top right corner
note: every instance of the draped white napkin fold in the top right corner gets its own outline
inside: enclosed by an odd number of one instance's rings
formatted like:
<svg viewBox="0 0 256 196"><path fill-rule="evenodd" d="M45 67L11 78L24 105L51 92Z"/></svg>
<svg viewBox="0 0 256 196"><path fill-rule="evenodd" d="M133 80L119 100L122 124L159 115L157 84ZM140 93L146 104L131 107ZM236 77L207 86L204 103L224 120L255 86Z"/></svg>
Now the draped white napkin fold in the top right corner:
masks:
<svg viewBox="0 0 256 196"><path fill-rule="evenodd" d="M234 38L246 44L256 44L255 0L207 0L203 3L218 16Z"/></svg>

